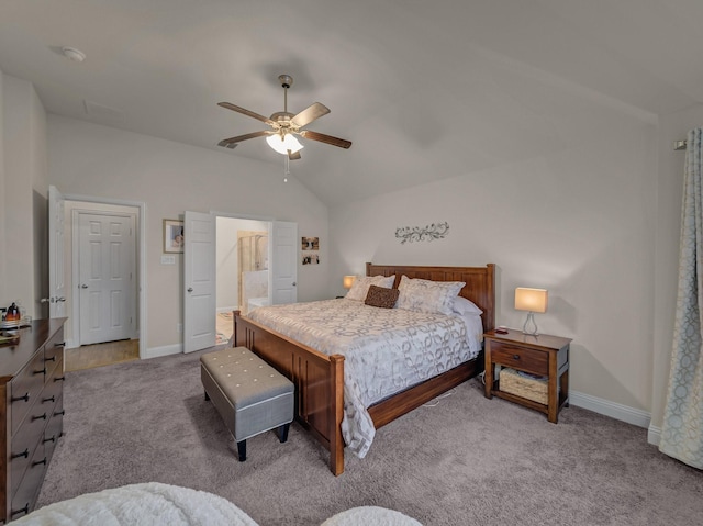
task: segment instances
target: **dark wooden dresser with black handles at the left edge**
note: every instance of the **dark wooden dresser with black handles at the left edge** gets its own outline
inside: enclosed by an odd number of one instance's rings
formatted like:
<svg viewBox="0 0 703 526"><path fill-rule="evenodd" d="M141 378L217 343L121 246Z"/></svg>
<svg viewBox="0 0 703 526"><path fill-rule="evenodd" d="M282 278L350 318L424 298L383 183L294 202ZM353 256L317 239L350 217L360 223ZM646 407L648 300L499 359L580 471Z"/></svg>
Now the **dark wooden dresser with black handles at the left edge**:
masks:
<svg viewBox="0 0 703 526"><path fill-rule="evenodd" d="M30 513L63 430L64 322L37 320L0 346L0 521Z"/></svg>

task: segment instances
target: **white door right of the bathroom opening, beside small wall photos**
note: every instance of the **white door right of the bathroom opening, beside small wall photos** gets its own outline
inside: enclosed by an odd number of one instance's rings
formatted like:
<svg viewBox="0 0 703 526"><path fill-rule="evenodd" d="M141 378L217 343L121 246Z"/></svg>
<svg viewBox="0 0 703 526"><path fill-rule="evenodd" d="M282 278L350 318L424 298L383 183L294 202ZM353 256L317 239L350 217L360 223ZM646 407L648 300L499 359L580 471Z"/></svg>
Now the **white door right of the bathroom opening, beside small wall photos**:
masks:
<svg viewBox="0 0 703 526"><path fill-rule="evenodd" d="M271 302L295 303L298 301L298 223L275 221L271 238Z"/></svg>

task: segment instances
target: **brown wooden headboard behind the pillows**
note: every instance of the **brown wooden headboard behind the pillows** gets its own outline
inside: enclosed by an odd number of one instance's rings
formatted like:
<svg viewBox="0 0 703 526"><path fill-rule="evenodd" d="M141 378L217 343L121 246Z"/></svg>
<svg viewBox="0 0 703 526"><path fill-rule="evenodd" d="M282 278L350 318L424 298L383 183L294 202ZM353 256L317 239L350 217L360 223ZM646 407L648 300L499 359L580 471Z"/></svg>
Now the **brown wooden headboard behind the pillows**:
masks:
<svg viewBox="0 0 703 526"><path fill-rule="evenodd" d="M432 281L464 281L466 286L459 292L460 296L471 300L483 311L483 331L495 328L495 264L486 267L413 267L404 265L373 265L366 264L366 276L393 276L394 288L398 288L401 276L427 279Z"/></svg>

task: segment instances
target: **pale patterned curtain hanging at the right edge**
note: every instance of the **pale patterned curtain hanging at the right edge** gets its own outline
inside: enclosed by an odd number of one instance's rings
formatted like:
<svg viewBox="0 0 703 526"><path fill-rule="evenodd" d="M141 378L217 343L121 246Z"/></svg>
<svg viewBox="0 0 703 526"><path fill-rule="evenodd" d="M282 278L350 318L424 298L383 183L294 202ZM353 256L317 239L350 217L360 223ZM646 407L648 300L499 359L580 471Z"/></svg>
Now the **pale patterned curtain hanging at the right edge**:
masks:
<svg viewBox="0 0 703 526"><path fill-rule="evenodd" d="M689 132L671 373L659 450L703 469L703 128Z"/></svg>

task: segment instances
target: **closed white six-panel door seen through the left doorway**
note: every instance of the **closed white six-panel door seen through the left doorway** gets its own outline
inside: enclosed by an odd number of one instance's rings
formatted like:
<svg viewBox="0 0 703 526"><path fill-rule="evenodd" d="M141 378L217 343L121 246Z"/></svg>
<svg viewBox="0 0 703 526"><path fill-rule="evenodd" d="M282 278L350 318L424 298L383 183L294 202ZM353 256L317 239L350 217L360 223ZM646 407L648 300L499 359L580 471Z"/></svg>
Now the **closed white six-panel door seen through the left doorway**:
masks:
<svg viewBox="0 0 703 526"><path fill-rule="evenodd" d="M80 345L134 335L136 298L134 216L78 214Z"/></svg>

